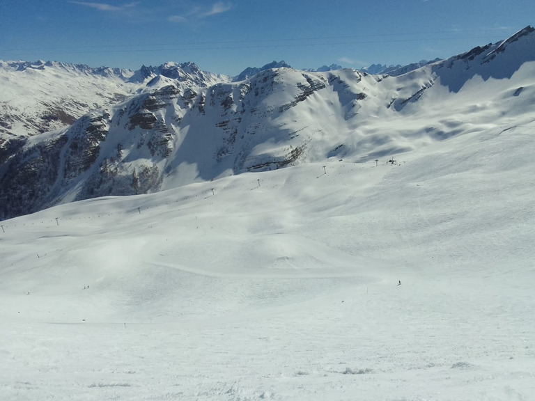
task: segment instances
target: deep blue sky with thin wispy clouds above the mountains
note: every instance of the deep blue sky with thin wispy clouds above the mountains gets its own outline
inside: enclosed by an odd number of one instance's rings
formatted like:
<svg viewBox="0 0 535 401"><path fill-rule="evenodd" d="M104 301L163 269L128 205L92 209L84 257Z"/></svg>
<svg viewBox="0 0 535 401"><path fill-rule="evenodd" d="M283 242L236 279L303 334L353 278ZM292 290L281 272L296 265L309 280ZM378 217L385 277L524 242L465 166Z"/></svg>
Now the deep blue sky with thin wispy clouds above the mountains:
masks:
<svg viewBox="0 0 535 401"><path fill-rule="evenodd" d="M533 0L0 0L0 60L362 68L446 58L534 24Z"/></svg>

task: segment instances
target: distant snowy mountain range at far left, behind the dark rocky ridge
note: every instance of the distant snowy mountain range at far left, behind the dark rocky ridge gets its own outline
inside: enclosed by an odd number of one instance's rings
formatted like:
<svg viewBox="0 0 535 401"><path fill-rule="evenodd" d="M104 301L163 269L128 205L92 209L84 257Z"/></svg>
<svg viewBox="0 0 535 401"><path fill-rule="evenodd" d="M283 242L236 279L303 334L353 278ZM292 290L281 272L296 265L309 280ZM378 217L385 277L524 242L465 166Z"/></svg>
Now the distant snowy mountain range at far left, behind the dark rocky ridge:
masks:
<svg viewBox="0 0 535 401"><path fill-rule="evenodd" d="M2 141L68 127L89 111L134 95L157 76L198 86L230 79L201 71L194 63L143 65L131 71L55 61L0 61L0 149L5 147Z"/></svg>

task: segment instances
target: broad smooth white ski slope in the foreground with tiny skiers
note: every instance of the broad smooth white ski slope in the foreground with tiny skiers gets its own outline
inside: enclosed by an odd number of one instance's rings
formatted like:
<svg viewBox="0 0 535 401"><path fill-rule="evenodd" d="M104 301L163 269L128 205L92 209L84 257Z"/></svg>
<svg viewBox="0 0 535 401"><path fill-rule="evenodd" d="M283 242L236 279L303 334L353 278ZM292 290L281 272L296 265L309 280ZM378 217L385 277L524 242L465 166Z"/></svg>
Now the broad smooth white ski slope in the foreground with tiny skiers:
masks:
<svg viewBox="0 0 535 401"><path fill-rule="evenodd" d="M0 222L0 399L534 399L534 127Z"/></svg>

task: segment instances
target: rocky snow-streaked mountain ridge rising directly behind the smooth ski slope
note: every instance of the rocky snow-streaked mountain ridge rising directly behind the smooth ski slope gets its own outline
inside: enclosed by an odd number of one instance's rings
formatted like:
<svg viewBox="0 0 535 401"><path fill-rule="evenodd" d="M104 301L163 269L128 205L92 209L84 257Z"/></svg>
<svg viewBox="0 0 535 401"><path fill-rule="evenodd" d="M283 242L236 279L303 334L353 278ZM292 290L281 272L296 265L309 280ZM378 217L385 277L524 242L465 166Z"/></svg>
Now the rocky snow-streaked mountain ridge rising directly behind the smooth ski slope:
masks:
<svg viewBox="0 0 535 401"><path fill-rule="evenodd" d="M0 165L0 218L298 162L389 157L500 123L504 102L524 116L535 102L533 29L481 49L400 77L290 68L210 86L146 77L120 104L8 152ZM490 86L476 75L508 79ZM460 83L476 85L470 101L480 104L460 102ZM485 118L474 118L474 107L486 107Z"/></svg>

